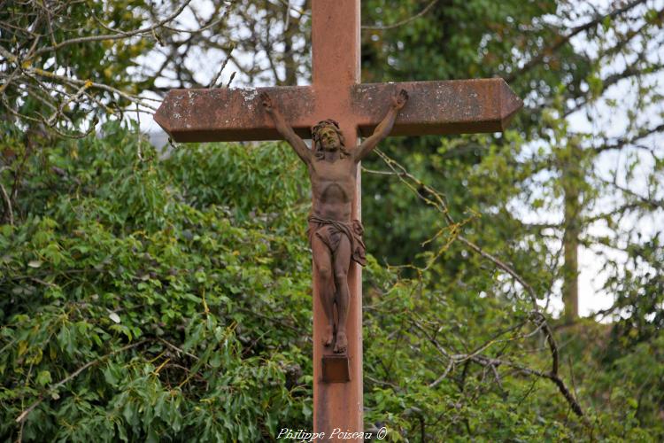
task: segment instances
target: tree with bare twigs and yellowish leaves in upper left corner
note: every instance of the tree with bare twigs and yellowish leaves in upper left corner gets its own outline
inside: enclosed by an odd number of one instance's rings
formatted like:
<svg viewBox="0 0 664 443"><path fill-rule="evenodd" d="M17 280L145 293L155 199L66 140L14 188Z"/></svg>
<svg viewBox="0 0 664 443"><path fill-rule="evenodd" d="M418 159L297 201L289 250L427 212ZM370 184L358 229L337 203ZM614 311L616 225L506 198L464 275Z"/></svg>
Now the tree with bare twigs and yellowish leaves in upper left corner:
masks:
<svg viewBox="0 0 664 443"><path fill-rule="evenodd" d="M222 32L229 9L218 2L210 13L221 17L201 22L191 0L0 5L0 174L11 176L0 197L10 224L25 215L14 206L28 159L58 137L94 132L99 121L153 113L159 84L170 82L163 72L183 65L174 54Z"/></svg>

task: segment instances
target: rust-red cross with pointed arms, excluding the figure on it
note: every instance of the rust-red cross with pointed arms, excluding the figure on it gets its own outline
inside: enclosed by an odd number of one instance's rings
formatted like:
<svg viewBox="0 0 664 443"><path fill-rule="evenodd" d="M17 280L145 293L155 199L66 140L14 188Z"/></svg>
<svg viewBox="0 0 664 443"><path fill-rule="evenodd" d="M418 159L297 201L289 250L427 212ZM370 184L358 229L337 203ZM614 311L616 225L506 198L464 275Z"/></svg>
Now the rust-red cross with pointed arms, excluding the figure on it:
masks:
<svg viewBox="0 0 664 443"><path fill-rule="evenodd" d="M174 89L154 119L176 142L249 141L282 138L261 104L261 93L297 136L311 138L317 122L336 119L347 146L370 136L381 122L391 97L405 89L410 97L392 127L391 136L498 132L521 108L499 78L444 82L360 83L359 0L313 0L313 84L258 89ZM360 219L357 168L352 199L353 219ZM315 198L315 196L314 196ZM315 203L315 202L314 202ZM371 245L368 245L369 251ZM327 317L320 302L320 283L313 267L313 431L363 431L361 268L348 273L350 307L348 347L336 354L323 345ZM343 436L336 431L337 438ZM334 437L333 437L334 439ZM361 438L355 440L362 440Z"/></svg>

